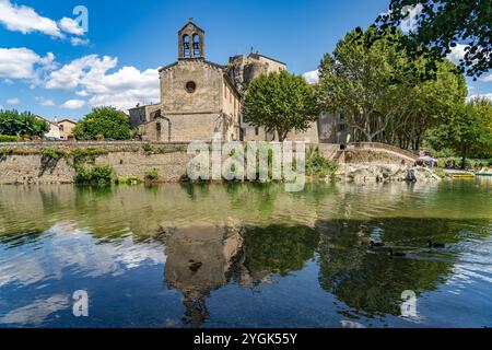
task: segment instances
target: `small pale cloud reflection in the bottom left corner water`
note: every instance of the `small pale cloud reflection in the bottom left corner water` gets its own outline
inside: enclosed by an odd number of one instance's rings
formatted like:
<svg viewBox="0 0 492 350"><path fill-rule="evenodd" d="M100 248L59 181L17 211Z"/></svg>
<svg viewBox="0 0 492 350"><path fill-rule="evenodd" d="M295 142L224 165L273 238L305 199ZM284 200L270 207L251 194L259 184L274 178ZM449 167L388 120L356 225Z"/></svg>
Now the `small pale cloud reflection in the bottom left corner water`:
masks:
<svg viewBox="0 0 492 350"><path fill-rule="evenodd" d="M69 295L56 294L48 299L36 299L33 303L11 311L0 318L7 325L39 325L46 317L69 307Z"/></svg>

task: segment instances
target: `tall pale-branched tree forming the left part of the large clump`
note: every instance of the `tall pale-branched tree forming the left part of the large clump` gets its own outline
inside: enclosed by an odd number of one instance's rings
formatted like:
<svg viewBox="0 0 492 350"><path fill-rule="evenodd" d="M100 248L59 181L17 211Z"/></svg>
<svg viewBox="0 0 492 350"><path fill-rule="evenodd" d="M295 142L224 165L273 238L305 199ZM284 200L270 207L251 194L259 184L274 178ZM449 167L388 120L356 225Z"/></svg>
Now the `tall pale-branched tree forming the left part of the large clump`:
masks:
<svg viewBox="0 0 492 350"><path fill-rule="evenodd" d="M359 141L373 142L398 112L395 101L407 58L396 43L402 39L399 32L379 37L374 26L356 28L321 60L318 102L325 112L343 113Z"/></svg>

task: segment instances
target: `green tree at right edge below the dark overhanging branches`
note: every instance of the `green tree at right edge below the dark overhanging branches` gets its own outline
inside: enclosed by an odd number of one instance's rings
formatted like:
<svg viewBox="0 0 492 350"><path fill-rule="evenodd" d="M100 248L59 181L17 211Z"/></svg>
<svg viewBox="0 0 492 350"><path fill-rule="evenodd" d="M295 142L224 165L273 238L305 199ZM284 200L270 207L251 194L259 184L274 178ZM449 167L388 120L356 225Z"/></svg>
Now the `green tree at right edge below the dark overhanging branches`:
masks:
<svg viewBox="0 0 492 350"><path fill-rule="evenodd" d="M476 98L459 106L429 132L435 149L452 149L461 156L461 167L469 158L492 155L492 103Z"/></svg>

